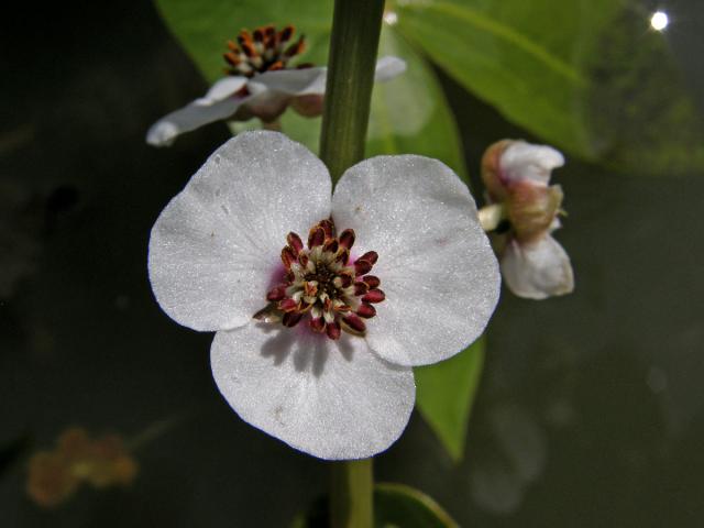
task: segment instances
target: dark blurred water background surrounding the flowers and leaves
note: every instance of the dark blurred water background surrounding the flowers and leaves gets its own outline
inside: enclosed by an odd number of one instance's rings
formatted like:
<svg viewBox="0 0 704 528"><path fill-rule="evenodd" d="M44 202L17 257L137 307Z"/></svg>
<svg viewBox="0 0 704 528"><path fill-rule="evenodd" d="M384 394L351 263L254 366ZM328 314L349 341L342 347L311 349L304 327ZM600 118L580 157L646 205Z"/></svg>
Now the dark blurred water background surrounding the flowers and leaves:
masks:
<svg viewBox="0 0 704 528"><path fill-rule="evenodd" d="M700 112L704 6L639 7L671 15L662 38ZM230 131L166 150L144 134L208 82L148 1L33 6L4 25L0 524L287 526L324 493L329 464L231 411L212 336L166 317L146 276L154 220ZM475 189L491 143L541 141L435 72ZM503 292L463 461L418 414L377 457L378 480L428 493L461 526L704 525L704 178L606 166L568 154L557 173L576 289L542 302ZM129 439L172 418L134 452L131 485L56 508L29 498L30 455L68 427Z"/></svg>

